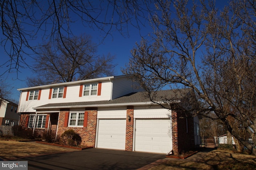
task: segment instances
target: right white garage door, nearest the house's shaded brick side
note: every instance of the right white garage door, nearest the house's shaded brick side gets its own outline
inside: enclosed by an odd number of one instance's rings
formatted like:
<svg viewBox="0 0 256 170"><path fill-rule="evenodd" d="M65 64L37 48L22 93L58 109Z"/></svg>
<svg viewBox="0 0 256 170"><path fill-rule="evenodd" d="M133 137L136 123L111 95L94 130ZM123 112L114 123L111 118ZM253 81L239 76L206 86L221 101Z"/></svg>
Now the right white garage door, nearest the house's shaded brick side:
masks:
<svg viewBox="0 0 256 170"><path fill-rule="evenodd" d="M170 119L136 119L136 151L167 153L172 150Z"/></svg>

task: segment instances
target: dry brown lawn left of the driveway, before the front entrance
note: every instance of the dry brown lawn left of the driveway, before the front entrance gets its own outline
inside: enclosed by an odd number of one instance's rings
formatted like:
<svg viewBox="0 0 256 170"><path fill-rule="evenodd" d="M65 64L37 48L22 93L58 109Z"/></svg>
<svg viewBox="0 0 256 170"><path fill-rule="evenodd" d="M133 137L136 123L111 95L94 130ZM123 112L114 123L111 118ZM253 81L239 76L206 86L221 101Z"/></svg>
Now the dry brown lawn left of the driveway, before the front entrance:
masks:
<svg viewBox="0 0 256 170"><path fill-rule="evenodd" d="M0 140L0 158L4 160L16 159L40 154L77 151L72 148L40 144L36 142L17 142Z"/></svg>

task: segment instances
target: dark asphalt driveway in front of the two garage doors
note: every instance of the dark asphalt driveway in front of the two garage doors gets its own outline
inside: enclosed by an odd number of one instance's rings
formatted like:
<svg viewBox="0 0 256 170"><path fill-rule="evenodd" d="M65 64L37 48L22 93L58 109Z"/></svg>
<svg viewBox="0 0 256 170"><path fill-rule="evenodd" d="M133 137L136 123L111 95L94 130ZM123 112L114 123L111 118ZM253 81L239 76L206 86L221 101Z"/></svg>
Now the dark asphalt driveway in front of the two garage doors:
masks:
<svg viewBox="0 0 256 170"><path fill-rule="evenodd" d="M20 160L28 161L28 170L135 170L164 158L164 154L91 148Z"/></svg>

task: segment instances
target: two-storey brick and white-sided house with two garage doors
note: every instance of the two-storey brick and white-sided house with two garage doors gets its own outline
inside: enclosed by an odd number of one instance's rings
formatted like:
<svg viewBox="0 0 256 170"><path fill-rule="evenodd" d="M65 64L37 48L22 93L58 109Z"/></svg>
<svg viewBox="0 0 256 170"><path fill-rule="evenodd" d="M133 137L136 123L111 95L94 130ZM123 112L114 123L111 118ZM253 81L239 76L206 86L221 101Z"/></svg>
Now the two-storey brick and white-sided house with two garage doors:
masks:
<svg viewBox="0 0 256 170"><path fill-rule="evenodd" d="M82 145L96 148L167 154L200 144L198 117L180 119L184 113L152 103L138 85L128 76L112 76L18 89L20 125L56 130L58 136L74 129ZM177 100L171 90L157 94Z"/></svg>

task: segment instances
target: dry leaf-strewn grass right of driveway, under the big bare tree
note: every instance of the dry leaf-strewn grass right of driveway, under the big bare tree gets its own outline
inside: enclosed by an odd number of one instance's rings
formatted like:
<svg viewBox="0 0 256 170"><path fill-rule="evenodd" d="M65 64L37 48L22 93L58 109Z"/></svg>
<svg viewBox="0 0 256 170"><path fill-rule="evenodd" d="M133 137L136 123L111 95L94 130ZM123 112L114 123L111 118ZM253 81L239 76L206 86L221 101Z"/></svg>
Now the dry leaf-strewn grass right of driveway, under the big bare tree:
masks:
<svg viewBox="0 0 256 170"><path fill-rule="evenodd" d="M198 161L172 159L150 170L255 170L256 157L229 150L213 150Z"/></svg>

